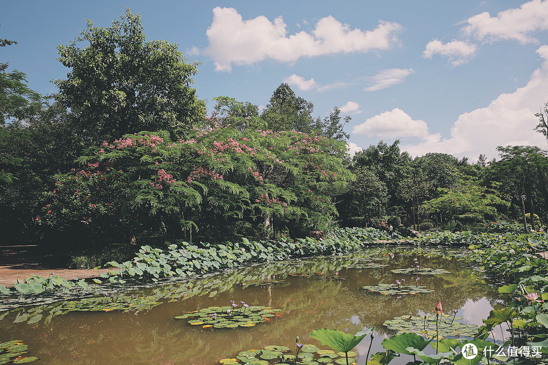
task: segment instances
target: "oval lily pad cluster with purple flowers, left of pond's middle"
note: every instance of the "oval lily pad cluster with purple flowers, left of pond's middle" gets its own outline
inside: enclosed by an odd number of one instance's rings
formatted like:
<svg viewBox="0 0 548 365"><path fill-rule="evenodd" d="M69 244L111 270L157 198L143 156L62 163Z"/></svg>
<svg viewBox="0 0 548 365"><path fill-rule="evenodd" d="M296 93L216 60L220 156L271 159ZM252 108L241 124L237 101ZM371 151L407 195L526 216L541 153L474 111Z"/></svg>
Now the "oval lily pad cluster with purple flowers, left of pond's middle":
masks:
<svg viewBox="0 0 548 365"><path fill-rule="evenodd" d="M253 327L257 323L270 321L281 309L255 305L233 308L233 306L210 306L197 311L188 312L175 318L187 320L192 326L202 326L203 328L236 328Z"/></svg>

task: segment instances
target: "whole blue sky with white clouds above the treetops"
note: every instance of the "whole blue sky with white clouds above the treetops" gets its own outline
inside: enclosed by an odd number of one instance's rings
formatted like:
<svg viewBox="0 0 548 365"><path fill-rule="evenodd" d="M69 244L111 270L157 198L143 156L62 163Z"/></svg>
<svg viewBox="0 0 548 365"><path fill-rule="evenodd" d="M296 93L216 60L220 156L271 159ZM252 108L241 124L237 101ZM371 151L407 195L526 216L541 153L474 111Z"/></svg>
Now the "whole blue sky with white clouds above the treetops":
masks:
<svg viewBox="0 0 548 365"><path fill-rule="evenodd" d="M30 87L66 77L57 47L129 7L147 40L179 45L209 111L216 96L261 107L288 83L324 118L352 121L351 150L401 140L412 155L475 161L496 146L546 148L534 114L548 102L548 1L2 1L0 62ZM81 47L85 47L82 44Z"/></svg>

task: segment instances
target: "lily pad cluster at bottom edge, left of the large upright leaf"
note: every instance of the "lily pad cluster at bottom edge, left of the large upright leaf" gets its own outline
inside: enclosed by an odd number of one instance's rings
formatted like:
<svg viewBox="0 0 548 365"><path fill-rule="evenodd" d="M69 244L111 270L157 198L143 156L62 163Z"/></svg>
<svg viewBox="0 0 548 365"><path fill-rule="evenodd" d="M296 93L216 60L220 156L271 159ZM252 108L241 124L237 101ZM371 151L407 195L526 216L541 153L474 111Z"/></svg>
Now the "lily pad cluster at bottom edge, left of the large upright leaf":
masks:
<svg viewBox="0 0 548 365"><path fill-rule="evenodd" d="M318 364L346 364L344 352L333 350L321 350L315 345L303 345L299 350L299 358L296 359L295 349L287 346L270 345L260 350L247 350L239 352L235 358L220 360L225 365L318 365ZM349 351L349 362L356 361L356 352ZM350 358L351 357L351 358Z"/></svg>

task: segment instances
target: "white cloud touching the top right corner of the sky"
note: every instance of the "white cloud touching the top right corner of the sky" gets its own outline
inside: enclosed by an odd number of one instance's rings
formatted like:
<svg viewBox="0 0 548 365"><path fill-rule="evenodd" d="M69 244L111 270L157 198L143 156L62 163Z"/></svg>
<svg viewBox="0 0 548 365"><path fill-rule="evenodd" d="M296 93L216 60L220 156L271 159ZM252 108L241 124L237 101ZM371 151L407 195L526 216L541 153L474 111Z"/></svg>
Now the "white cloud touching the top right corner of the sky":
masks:
<svg viewBox="0 0 548 365"><path fill-rule="evenodd" d="M469 18L468 24L461 32L481 41L514 39L522 44L538 43L529 33L548 30L548 1L533 0L496 16L484 12Z"/></svg>

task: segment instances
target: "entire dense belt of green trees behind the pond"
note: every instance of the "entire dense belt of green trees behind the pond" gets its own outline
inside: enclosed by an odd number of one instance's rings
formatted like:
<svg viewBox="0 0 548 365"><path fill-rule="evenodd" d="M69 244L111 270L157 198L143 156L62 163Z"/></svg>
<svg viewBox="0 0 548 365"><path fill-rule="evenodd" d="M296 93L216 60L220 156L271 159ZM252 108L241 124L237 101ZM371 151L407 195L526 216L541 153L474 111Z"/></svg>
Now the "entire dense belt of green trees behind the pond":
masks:
<svg viewBox="0 0 548 365"><path fill-rule="evenodd" d="M4 244L99 251L498 219L527 233L548 221L544 150L501 146L498 159L471 164L443 153L412 158L396 140L351 158L350 117L334 107L315 118L287 84L262 111L221 96L208 115L192 87L199 65L174 44L147 41L129 10L109 28L89 22L59 47L59 61L70 71L48 96L0 64ZM545 114L537 117L548 135Z"/></svg>

